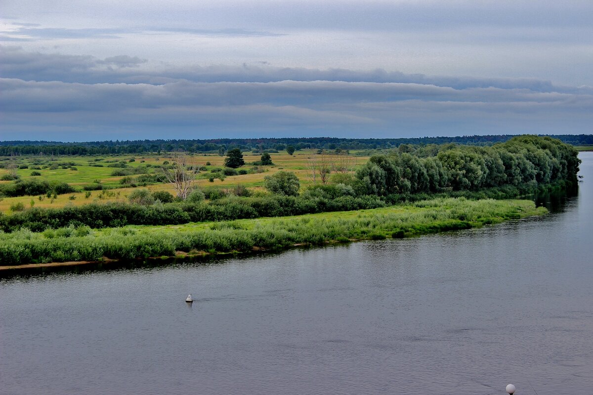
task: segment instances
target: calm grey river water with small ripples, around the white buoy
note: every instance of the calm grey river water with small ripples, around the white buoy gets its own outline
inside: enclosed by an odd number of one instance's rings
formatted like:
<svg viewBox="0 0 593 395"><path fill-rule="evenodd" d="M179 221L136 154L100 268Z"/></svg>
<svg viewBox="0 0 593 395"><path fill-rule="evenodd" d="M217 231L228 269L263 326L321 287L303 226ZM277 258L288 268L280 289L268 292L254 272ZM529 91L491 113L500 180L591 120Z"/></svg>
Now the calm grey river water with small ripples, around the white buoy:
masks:
<svg viewBox="0 0 593 395"><path fill-rule="evenodd" d="M580 157L578 196L541 218L4 279L0 394L591 395L593 152Z"/></svg>

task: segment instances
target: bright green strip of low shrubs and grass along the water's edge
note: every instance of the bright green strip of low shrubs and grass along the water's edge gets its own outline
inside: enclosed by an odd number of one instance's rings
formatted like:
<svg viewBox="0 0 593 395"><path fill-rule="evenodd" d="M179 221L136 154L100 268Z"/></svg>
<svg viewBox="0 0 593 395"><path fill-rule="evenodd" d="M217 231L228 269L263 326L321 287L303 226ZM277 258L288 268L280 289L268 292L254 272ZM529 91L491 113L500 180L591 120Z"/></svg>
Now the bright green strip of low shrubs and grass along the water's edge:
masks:
<svg viewBox="0 0 593 395"><path fill-rule="evenodd" d="M540 215L528 200L422 200L409 205L361 212L303 215L181 227L69 227L44 232L19 230L0 234L2 265L25 263L145 259L186 253L282 249L294 244L405 237L480 227L522 216Z"/></svg>

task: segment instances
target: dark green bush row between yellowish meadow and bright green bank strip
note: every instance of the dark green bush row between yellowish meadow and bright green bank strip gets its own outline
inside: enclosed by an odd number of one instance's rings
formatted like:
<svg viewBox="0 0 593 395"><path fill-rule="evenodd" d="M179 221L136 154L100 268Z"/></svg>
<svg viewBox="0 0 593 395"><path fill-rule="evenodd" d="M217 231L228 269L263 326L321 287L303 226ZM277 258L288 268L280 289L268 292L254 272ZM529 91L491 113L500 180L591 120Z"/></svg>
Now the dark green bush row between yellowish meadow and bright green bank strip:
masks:
<svg viewBox="0 0 593 395"><path fill-rule="evenodd" d="M20 228L28 228L40 232L48 228L68 227L69 225L103 228L124 225L185 224L190 221L229 221L260 216L299 215L385 206L382 200L374 196L359 198L341 196L337 199L305 196L266 196L264 198L232 196L213 200L210 203L184 202L152 206L138 203L91 203L56 209L31 208L24 212L1 215L0 230L11 232Z"/></svg>

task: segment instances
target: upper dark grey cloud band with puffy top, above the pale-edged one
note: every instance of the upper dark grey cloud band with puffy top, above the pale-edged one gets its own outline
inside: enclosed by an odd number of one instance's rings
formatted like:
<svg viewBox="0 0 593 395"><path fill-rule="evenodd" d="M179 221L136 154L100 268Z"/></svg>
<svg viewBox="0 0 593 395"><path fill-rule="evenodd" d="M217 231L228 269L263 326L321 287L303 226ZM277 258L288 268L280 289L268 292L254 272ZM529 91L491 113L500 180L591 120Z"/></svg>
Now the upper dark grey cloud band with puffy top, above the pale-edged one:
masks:
<svg viewBox="0 0 593 395"><path fill-rule="evenodd" d="M117 55L98 59L89 55L27 52L17 46L1 46L0 77L36 81L81 82L84 84L116 83L165 84L180 80L193 82L278 82L278 81L344 81L399 82L403 84L436 85L439 87L526 89L534 92L591 93L592 87L554 85L536 78L475 78L405 74L375 69L288 68L244 63L241 66L212 65L184 68L162 66L139 69L148 60L138 56ZM116 69L106 68L114 65Z"/></svg>

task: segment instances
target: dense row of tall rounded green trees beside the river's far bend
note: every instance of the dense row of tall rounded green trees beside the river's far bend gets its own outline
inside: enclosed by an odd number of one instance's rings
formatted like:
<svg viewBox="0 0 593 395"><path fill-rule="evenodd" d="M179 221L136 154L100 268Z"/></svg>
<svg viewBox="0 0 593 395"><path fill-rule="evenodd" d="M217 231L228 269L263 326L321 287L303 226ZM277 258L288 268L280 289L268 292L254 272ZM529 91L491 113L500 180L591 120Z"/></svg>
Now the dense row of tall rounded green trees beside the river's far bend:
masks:
<svg viewBox="0 0 593 395"><path fill-rule="evenodd" d="M515 136L488 147L401 145L374 155L351 181L358 194L391 196L576 183L578 151L550 137ZM393 199L392 199L393 200Z"/></svg>

